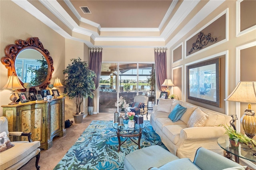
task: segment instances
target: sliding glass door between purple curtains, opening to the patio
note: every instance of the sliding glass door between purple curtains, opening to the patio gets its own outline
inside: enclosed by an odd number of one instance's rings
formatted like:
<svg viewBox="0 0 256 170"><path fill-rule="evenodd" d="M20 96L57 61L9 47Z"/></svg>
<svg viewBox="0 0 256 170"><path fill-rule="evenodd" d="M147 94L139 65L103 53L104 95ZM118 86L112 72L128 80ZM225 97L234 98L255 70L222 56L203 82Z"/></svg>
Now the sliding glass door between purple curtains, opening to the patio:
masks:
<svg viewBox="0 0 256 170"><path fill-rule="evenodd" d="M136 95L150 95L147 79L154 69L152 63L102 63L99 85L99 113L117 111L115 102L122 96L126 103Z"/></svg>

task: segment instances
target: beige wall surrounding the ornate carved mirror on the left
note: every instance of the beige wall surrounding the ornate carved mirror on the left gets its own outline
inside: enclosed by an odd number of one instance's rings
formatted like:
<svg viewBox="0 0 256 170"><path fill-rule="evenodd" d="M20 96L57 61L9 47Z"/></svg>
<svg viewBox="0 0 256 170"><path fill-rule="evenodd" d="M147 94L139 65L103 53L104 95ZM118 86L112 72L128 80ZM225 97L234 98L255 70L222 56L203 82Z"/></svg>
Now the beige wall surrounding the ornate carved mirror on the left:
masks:
<svg viewBox="0 0 256 170"><path fill-rule="evenodd" d="M62 59L65 57L65 39L12 1L0 1L0 4L0 56L5 56L6 45L14 44L15 40L38 37L54 61L51 83L54 83L56 77L64 79L62 73L64 60ZM2 63L0 64L0 79L0 105L8 105L10 91L2 90L8 79L7 69ZM2 109L0 115L2 115Z"/></svg>

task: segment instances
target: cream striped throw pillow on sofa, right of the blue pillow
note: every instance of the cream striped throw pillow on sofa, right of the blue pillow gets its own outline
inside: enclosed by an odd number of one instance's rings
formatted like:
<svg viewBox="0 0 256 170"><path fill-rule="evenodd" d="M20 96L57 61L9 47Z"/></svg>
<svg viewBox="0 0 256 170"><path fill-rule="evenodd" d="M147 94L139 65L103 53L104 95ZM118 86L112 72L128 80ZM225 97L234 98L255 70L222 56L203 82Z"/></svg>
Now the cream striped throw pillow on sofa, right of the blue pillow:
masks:
<svg viewBox="0 0 256 170"><path fill-rule="evenodd" d="M188 120L188 127L203 127L208 117L200 108L196 108Z"/></svg>

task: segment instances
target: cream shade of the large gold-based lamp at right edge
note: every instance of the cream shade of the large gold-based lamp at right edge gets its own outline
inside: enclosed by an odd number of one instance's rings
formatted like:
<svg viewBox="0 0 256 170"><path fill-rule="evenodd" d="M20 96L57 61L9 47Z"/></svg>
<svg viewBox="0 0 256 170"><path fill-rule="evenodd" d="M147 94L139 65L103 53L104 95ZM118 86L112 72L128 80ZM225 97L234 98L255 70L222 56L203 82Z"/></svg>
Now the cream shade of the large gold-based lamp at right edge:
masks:
<svg viewBox="0 0 256 170"><path fill-rule="evenodd" d="M256 81L239 81L234 91L225 100L256 103Z"/></svg>

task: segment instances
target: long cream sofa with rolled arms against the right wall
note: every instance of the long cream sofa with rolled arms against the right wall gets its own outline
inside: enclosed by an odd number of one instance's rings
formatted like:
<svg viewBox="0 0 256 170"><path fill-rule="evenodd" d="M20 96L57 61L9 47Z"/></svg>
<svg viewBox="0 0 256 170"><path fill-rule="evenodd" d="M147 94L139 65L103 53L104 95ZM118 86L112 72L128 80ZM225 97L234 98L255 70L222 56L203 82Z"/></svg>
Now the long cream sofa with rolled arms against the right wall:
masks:
<svg viewBox="0 0 256 170"><path fill-rule="evenodd" d="M172 122L168 116L178 104L185 107L186 111L178 121ZM194 127L191 127L192 118L194 117L205 117L205 119L198 125L194 124ZM218 125L230 125L231 119L232 117L228 115L187 102L176 99L159 99L158 105L153 107L150 123L172 154L179 158L193 160L199 147L204 147L223 155L223 150L218 146L217 139L220 136L224 136L225 130Z"/></svg>

